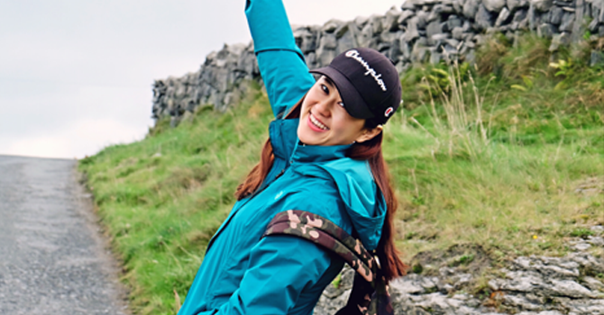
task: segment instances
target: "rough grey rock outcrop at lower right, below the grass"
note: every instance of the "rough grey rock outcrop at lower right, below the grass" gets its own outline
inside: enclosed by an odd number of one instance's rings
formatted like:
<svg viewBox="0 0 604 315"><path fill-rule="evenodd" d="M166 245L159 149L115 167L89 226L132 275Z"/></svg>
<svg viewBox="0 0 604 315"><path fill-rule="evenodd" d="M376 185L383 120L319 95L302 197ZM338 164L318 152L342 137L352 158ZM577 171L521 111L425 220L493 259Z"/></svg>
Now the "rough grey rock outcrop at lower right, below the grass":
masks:
<svg viewBox="0 0 604 315"><path fill-rule="evenodd" d="M572 239L572 252L565 257L517 257L490 273L485 273L489 258L477 246L453 247L440 258L419 254L416 260L434 264L435 272L415 266L421 274L390 284L395 314L604 315L604 258L589 252L592 247L604 248L604 227L591 231L593 235L585 239ZM472 295L469 289L473 285L476 290L479 276L486 287ZM343 307L352 278L352 269L345 269L338 287L325 290L315 314L334 314Z"/></svg>

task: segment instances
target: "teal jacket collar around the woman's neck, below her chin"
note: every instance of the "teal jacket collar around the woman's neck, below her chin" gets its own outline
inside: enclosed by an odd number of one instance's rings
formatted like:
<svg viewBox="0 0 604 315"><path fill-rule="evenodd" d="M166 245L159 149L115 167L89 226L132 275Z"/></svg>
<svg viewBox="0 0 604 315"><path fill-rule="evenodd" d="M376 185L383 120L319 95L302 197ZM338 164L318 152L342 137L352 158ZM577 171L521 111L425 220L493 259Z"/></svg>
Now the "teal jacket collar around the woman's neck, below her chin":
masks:
<svg viewBox="0 0 604 315"><path fill-rule="evenodd" d="M288 159L289 163L327 162L346 156L350 144L341 146L309 146L297 139L298 119L270 122L270 144L275 156Z"/></svg>

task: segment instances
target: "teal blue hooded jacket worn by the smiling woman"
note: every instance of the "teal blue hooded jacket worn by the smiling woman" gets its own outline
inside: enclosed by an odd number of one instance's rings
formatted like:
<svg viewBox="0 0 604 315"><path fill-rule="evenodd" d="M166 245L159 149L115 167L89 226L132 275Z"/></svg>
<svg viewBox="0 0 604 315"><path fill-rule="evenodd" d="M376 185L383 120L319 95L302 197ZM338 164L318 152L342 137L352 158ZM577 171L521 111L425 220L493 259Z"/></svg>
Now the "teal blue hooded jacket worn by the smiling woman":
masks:
<svg viewBox="0 0 604 315"><path fill-rule="evenodd" d="M252 0L246 15L272 110L281 117L315 80L280 0ZM302 238L261 238L280 211L314 212L368 249L377 247L386 204L368 163L345 157L350 145L300 143L297 123L270 123L270 173L256 193L234 204L210 240L178 315L312 314L343 260Z"/></svg>

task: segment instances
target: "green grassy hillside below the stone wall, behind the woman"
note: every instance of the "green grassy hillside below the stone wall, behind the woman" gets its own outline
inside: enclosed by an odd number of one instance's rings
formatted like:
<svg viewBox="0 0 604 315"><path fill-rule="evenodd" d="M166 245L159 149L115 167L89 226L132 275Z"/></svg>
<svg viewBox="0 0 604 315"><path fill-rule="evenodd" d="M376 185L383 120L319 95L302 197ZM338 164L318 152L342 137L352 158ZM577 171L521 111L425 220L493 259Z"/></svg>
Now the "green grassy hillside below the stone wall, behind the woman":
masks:
<svg viewBox="0 0 604 315"><path fill-rule="evenodd" d="M495 264L559 256L565 237L604 224L604 69L585 61L604 41L555 56L546 40L523 42L494 39L475 67L416 65L402 77L384 148L407 261L460 243ZM228 112L199 107L178 128L159 121L146 139L80 160L133 311L173 313L184 300L270 120L256 86Z"/></svg>

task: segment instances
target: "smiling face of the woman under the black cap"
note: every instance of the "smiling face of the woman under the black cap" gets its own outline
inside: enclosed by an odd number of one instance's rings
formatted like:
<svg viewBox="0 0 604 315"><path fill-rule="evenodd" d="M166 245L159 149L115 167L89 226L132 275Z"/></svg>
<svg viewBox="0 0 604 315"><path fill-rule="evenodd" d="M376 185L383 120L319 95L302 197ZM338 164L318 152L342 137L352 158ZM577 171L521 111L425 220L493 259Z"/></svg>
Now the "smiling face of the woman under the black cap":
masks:
<svg viewBox="0 0 604 315"><path fill-rule="evenodd" d="M314 146L335 146L367 140L365 120L344 109L340 93L326 76L321 76L302 102L297 137ZM371 139L372 136L369 138Z"/></svg>

